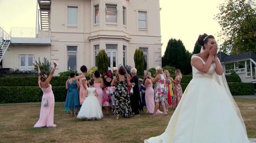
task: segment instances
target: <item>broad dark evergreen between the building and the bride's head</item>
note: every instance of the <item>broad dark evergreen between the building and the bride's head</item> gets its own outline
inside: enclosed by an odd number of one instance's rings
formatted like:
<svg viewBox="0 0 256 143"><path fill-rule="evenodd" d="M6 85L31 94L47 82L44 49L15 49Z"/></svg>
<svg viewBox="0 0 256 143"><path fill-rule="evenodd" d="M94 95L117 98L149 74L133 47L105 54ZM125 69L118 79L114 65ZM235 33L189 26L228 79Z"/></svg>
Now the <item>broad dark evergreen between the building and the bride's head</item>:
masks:
<svg viewBox="0 0 256 143"><path fill-rule="evenodd" d="M164 57L162 57L162 65L169 65L176 69L180 69L181 73L188 73L188 59L186 49L181 40L171 38L167 44Z"/></svg>

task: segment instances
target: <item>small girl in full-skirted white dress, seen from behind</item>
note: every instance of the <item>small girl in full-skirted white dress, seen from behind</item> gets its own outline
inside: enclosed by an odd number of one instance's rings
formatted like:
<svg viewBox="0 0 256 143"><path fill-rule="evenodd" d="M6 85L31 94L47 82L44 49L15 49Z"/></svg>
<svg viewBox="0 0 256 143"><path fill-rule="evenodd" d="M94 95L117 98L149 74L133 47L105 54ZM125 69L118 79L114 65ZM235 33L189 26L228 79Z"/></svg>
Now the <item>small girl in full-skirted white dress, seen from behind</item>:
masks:
<svg viewBox="0 0 256 143"><path fill-rule="evenodd" d="M96 96L98 96L96 89L93 87L94 79L89 81L89 88L87 88L88 94L85 101L81 106L81 109L77 115L78 119L86 120L99 120L103 118L101 106Z"/></svg>

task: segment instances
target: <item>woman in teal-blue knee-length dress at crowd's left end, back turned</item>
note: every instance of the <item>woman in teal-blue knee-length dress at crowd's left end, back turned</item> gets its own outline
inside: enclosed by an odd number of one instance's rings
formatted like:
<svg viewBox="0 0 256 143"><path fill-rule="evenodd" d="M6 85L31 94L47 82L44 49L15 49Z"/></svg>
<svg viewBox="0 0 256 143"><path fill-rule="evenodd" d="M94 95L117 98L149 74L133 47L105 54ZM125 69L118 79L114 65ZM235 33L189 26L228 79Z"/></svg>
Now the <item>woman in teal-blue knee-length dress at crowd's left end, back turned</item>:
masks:
<svg viewBox="0 0 256 143"><path fill-rule="evenodd" d="M76 80L76 74L70 73L70 79L66 81L67 96L65 101L65 111L70 111L71 116L78 114L78 108L80 106L77 87L80 88L80 83Z"/></svg>

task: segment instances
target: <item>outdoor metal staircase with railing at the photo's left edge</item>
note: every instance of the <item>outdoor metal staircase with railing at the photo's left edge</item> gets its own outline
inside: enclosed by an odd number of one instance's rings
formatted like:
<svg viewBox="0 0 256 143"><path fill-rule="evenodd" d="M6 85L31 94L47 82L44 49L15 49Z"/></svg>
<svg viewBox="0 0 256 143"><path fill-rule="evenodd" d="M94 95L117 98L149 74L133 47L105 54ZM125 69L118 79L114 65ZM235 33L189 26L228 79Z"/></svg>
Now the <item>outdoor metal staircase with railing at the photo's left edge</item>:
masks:
<svg viewBox="0 0 256 143"><path fill-rule="evenodd" d="M0 27L0 62L3 59L4 53L6 53L9 44L11 43L11 34L7 34L1 27Z"/></svg>

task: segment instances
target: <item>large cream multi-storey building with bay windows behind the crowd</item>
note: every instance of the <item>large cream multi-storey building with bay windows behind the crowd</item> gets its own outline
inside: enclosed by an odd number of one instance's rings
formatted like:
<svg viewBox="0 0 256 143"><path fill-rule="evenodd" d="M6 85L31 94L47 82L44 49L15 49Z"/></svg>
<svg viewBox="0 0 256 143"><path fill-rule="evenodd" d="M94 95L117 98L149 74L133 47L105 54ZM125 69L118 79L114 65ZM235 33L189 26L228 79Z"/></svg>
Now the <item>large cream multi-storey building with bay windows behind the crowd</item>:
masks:
<svg viewBox="0 0 256 143"><path fill-rule="evenodd" d="M2 31L3 68L32 70L45 57L56 60L56 73L89 69L100 49L106 49L109 68L134 66L137 48L146 69L161 65L159 0L38 0L37 21L37 28L12 28L11 40Z"/></svg>

